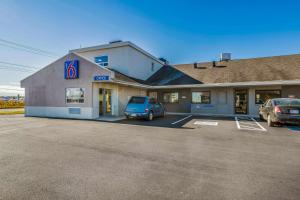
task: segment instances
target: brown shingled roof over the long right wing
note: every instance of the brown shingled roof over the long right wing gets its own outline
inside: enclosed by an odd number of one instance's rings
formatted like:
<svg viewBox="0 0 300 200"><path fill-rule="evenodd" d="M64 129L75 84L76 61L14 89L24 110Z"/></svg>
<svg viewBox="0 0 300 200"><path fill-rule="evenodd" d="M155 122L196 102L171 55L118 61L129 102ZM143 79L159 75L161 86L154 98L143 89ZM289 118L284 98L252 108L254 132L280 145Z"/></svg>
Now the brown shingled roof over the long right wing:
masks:
<svg viewBox="0 0 300 200"><path fill-rule="evenodd" d="M173 65L203 83L234 83L300 79L300 54Z"/></svg>

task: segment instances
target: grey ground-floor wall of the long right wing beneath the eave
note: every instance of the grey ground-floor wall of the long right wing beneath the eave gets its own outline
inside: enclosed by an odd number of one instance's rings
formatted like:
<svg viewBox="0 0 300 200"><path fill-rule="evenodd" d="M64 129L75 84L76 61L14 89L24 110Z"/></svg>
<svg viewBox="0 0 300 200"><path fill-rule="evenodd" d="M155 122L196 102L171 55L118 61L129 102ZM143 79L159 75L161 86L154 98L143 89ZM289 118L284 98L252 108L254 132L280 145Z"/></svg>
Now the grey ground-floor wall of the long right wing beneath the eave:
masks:
<svg viewBox="0 0 300 200"><path fill-rule="evenodd" d="M179 103L164 103L167 112L177 113L193 113L193 114L216 114L216 115L234 115L235 89L240 88L192 88L192 89L172 89L172 90L156 90L158 100L163 102L163 93L179 92ZM300 86L256 86L245 88L248 90L248 114L258 116L260 104L255 104L256 90L281 90L282 97L295 95L300 98ZM153 92L155 90L149 90ZM210 104L193 104L193 91L210 91ZM182 96L186 98L183 99Z"/></svg>

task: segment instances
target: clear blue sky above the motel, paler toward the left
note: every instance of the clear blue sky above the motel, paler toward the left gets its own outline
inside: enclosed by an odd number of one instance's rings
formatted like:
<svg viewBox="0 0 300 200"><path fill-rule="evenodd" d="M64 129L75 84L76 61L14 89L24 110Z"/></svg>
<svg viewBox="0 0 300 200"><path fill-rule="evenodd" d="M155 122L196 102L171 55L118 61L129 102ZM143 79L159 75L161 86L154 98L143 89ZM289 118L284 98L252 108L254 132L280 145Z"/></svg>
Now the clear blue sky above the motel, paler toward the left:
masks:
<svg viewBox="0 0 300 200"><path fill-rule="evenodd" d="M298 54L299 9L290 0L0 0L0 96L23 94L20 80L70 49L116 39L171 64L218 60L221 52L233 59ZM12 71L3 62L34 69Z"/></svg>

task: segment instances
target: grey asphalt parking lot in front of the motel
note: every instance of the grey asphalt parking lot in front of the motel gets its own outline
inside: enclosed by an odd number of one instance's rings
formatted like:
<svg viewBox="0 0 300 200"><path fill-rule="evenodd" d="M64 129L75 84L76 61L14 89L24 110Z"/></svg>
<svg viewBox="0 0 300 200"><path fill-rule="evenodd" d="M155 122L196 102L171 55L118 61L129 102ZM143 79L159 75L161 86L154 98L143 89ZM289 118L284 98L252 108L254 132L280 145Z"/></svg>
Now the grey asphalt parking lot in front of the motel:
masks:
<svg viewBox="0 0 300 200"><path fill-rule="evenodd" d="M299 127L0 116L0 199L300 199Z"/></svg>

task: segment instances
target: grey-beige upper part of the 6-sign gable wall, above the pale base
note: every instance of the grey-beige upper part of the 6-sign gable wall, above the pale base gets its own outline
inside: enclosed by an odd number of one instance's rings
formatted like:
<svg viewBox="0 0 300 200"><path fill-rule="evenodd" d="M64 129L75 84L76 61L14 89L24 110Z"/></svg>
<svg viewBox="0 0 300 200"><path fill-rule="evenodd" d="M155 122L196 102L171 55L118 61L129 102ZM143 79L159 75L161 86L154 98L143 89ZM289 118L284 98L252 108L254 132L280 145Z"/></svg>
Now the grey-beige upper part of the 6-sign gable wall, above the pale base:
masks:
<svg viewBox="0 0 300 200"><path fill-rule="evenodd" d="M67 80L64 78L64 62L75 59L79 60L79 78ZM26 106L91 107L92 81L96 74L110 75L110 72L75 54L66 55L21 82L21 86L25 88L25 104ZM85 88L83 104L66 103L65 90L72 87Z"/></svg>

